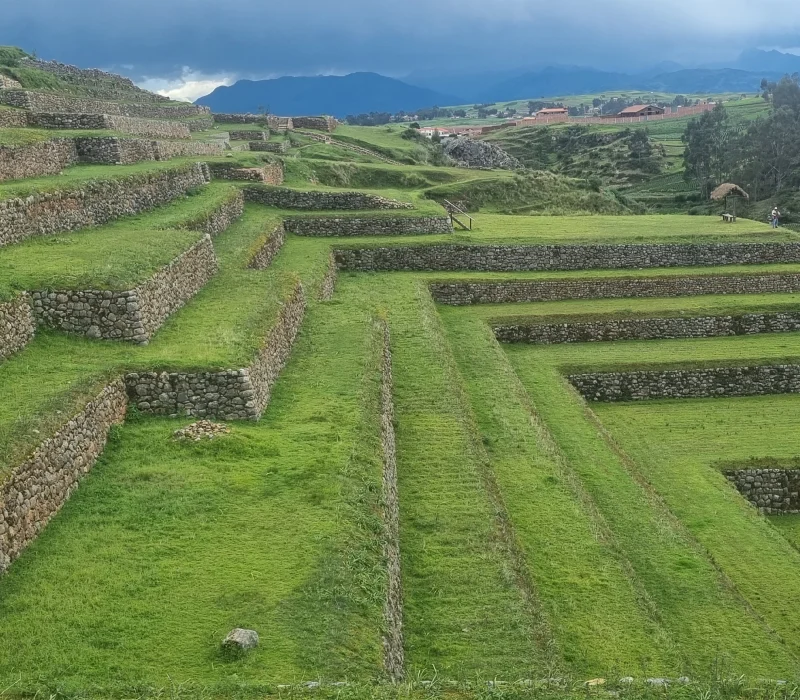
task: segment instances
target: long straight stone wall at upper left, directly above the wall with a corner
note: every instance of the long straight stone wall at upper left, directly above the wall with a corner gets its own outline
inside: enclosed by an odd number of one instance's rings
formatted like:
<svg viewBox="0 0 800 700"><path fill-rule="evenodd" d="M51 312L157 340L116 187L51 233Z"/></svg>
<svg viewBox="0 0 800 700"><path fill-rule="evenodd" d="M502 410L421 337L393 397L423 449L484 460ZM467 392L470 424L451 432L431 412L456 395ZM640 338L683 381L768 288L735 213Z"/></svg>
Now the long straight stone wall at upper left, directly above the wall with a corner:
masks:
<svg viewBox="0 0 800 700"><path fill-rule="evenodd" d="M0 246L140 214L205 184L202 164L192 163L2 200Z"/></svg>

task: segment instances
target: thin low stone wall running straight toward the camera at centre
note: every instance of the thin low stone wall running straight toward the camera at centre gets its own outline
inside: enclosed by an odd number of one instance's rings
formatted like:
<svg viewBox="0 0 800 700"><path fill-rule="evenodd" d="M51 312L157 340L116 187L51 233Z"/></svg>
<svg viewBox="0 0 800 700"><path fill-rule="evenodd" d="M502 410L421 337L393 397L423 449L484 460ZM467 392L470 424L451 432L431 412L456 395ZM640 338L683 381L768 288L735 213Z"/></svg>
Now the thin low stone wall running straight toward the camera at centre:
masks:
<svg viewBox="0 0 800 700"><path fill-rule="evenodd" d="M397 488L397 450L392 400L392 350L389 327L381 323L381 452L383 453L384 557L387 566L386 600L383 617L383 656L386 673L398 682L405 675L403 647L403 588L400 570L400 497Z"/></svg>

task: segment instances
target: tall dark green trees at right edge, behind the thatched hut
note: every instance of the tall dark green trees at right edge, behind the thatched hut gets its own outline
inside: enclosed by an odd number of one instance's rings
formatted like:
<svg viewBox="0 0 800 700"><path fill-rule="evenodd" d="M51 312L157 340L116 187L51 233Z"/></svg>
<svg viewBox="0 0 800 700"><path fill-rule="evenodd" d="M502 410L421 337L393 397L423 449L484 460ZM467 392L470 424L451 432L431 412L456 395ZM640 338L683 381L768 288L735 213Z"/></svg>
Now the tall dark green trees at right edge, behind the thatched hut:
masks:
<svg viewBox="0 0 800 700"><path fill-rule="evenodd" d="M766 117L733 123L719 103L686 127L685 177L704 196L723 182L744 188L753 201L800 186L800 76L762 88L772 104Z"/></svg>

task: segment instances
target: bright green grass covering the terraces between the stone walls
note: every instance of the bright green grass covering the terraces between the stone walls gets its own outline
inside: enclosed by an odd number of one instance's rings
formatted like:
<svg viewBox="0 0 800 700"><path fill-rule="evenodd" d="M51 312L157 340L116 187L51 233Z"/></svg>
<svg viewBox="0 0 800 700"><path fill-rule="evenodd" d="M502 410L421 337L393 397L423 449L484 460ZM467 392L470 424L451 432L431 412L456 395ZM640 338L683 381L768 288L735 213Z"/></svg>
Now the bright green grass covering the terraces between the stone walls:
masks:
<svg viewBox="0 0 800 700"><path fill-rule="evenodd" d="M757 107L742 101L740 117ZM659 126L650 137L667 149L666 166L636 187L643 196L686 194L673 167L680 133ZM613 286L630 277L797 274L800 263L339 270L332 298L322 292L331 252L349 247L458 243L491 255L507 245L787 243L798 234L746 219L633 216L640 210L583 176L434 165L433 151L403 139L403 129L340 127L332 144L292 135L281 156L284 187L357 190L413 209L287 212L248 203L213 239L218 274L149 345L39 329L0 362L3 487L109 378L246 367L298 282L308 304L260 420L230 421L230 433L213 441L179 442L173 433L195 417L129 407L80 488L0 575L2 700L797 697L800 516L760 514L722 471L751 460L797 464L800 395L590 403L567 377L792 365L800 333L534 345L501 344L492 327L796 312L800 293L451 307L437 305L429 285ZM0 139L28 138L17 131ZM79 166L4 183L0 198L200 160L257 167L264 158L236 150ZM0 295L135 286L196 241L192 226L238 186L212 182L147 214L2 248ZM267 269L248 267L288 215L443 216L437 202L445 198L477 203L471 231L288 234ZM383 323L391 385L382 374ZM391 421L381 414L389 399ZM404 655L397 684L384 646L391 454ZM224 650L235 627L258 631L258 648Z"/></svg>

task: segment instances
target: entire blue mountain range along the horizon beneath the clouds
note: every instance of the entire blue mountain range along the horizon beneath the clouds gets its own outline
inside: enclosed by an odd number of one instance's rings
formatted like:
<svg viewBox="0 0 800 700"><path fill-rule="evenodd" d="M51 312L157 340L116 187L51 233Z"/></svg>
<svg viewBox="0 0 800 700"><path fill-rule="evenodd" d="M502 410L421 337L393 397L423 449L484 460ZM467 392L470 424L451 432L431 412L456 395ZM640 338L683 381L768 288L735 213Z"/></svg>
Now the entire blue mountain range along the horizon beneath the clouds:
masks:
<svg viewBox="0 0 800 700"><path fill-rule="evenodd" d="M494 72L409 75L405 81L377 73L345 76L283 77L240 80L218 87L197 104L215 112L330 114L413 112L434 105L537 99L606 90L653 90L672 93L756 92L762 78L777 80L800 72L800 56L779 51L743 52L732 64L685 68L664 62L638 74L580 66L545 66Z"/></svg>

